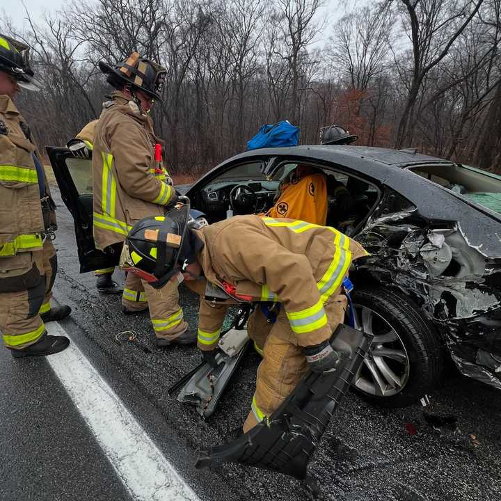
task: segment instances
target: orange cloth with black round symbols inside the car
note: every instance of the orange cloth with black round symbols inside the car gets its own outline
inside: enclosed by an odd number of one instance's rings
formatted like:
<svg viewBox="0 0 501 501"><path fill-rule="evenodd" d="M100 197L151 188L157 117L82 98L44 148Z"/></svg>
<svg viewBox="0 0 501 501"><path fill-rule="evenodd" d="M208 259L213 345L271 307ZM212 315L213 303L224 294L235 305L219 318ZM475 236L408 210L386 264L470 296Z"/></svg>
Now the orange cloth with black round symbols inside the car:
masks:
<svg viewBox="0 0 501 501"><path fill-rule="evenodd" d="M299 219L324 226L327 218L327 183L323 174L310 174L282 186L282 194L266 216Z"/></svg>

